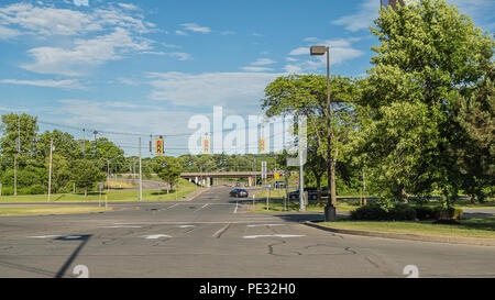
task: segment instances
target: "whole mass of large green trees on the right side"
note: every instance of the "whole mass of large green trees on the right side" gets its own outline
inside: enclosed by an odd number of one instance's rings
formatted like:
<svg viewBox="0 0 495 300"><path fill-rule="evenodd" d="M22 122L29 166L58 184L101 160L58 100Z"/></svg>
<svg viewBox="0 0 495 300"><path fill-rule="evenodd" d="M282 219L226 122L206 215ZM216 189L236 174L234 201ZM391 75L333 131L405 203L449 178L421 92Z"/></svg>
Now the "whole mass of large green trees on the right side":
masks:
<svg viewBox="0 0 495 300"><path fill-rule="evenodd" d="M367 77L331 78L330 162L326 77L290 75L265 89L266 114L308 118L309 174L322 177L318 166L331 164L348 186L367 178L384 204L439 193L451 207L460 192L473 202L493 196L493 35L444 0L382 9L371 30L381 44ZM332 179L333 188L342 181Z"/></svg>

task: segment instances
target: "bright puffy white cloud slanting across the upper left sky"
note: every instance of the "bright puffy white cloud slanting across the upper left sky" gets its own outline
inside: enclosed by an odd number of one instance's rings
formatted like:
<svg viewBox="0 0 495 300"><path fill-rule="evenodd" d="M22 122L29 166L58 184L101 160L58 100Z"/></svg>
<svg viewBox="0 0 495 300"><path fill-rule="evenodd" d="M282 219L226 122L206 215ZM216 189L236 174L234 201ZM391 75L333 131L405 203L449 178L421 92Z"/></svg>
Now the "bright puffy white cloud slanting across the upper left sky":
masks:
<svg viewBox="0 0 495 300"><path fill-rule="evenodd" d="M127 30L117 27L111 34L92 40L76 40L72 48L32 48L28 53L34 58L34 63L21 67L40 74L82 76L89 67L121 59L122 54L131 51L150 48L148 41L134 42Z"/></svg>

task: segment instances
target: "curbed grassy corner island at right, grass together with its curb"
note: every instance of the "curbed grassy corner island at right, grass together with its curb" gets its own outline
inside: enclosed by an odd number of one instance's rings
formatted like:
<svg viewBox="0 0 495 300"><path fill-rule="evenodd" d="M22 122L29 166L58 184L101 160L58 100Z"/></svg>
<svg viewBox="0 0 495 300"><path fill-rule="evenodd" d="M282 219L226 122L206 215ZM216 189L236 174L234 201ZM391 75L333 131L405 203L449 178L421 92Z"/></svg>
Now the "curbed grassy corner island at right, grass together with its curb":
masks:
<svg viewBox="0 0 495 300"><path fill-rule="evenodd" d="M408 240L408 241L421 241L421 242L435 242L435 243L450 243L450 244L468 244L468 245L481 245L481 246L495 246L495 237L466 237L459 235L429 235L429 234L418 234L408 232L391 232L391 231L378 231L378 230L361 230L361 229L349 229L345 227L346 221L338 221L334 223L326 223L321 221L306 221L305 224L324 230L332 233L339 234L350 234L350 235L362 235L372 237L385 237L385 238L396 238L396 240ZM398 222L382 222L382 223L398 223ZM363 223L364 224L364 223ZM493 230L492 230L493 231ZM438 232L436 232L438 233ZM475 234L475 233L474 233ZM495 234L495 232L490 232L487 235Z"/></svg>

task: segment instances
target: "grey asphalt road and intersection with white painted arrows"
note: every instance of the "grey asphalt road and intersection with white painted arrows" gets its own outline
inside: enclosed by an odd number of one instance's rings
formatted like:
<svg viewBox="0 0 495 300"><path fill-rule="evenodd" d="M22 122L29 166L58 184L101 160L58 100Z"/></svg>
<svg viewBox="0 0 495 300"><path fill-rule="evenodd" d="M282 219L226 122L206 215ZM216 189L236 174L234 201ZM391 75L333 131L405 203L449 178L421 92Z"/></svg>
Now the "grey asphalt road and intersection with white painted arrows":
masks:
<svg viewBox="0 0 495 300"><path fill-rule="evenodd" d="M321 214L250 213L211 189L190 202L0 218L0 277L495 277L495 247L332 234ZM82 269L85 269L82 267ZM76 271L76 273L75 273Z"/></svg>

